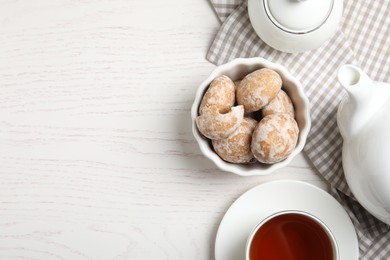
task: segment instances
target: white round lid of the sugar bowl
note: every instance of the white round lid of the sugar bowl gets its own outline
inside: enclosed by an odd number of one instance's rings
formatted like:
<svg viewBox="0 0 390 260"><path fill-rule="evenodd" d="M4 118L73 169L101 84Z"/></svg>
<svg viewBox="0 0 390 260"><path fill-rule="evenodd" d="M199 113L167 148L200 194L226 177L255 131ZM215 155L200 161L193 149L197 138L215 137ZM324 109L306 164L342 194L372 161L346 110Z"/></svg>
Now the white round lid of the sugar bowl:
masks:
<svg viewBox="0 0 390 260"><path fill-rule="evenodd" d="M334 0L264 0L269 19L290 33L307 33L328 19Z"/></svg>

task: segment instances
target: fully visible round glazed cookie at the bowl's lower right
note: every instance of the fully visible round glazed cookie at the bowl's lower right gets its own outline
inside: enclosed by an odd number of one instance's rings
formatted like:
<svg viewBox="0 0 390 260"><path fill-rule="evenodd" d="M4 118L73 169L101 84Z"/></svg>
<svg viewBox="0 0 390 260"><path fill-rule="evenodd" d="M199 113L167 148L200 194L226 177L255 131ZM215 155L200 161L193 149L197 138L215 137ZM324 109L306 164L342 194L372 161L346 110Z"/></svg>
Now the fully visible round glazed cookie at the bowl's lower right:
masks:
<svg viewBox="0 0 390 260"><path fill-rule="evenodd" d="M252 135L254 157L267 164L286 159L298 141L298 125L288 114L272 114L264 117Z"/></svg>

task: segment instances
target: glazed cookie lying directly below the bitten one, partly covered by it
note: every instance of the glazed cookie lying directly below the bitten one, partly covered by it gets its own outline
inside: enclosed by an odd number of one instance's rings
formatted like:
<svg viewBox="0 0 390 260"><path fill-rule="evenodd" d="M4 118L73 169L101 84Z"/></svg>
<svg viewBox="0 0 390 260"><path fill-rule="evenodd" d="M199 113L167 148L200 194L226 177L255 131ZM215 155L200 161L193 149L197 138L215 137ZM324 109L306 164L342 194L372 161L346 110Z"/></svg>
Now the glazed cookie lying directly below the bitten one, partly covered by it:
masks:
<svg viewBox="0 0 390 260"><path fill-rule="evenodd" d="M225 161L231 163L248 163L253 161L251 151L252 132L257 121L245 117L241 125L226 139L212 140L215 152Z"/></svg>

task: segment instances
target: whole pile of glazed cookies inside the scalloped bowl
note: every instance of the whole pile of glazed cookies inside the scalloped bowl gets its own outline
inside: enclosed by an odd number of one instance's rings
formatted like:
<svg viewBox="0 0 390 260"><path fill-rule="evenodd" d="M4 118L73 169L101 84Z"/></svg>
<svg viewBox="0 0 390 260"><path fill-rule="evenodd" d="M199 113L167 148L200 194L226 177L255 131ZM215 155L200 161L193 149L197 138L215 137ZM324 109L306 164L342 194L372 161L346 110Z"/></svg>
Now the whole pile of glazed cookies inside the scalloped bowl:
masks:
<svg viewBox="0 0 390 260"><path fill-rule="evenodd" d="M282 85L280 75L268 68L236 83L225 75L213 80L203 95L196 125L223 160L273 164L291 154L299 128Z"/></svg>

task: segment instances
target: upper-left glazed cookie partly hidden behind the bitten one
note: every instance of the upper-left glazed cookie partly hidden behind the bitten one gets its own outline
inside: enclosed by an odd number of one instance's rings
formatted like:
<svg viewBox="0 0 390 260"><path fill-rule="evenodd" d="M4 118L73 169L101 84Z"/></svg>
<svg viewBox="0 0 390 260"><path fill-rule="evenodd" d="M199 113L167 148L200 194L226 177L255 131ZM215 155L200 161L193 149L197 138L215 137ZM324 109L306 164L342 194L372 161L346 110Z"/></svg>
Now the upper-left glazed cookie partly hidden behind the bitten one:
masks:
<svg viewBox="0 0 390 260"><path fill-rule="evenodd" d="M225 75L217 77L203 95L199 114L203 113L205 107L210 106L216 106L220 113L229 112L235 102L235 90L236 86L229 77Z"/></svg>

